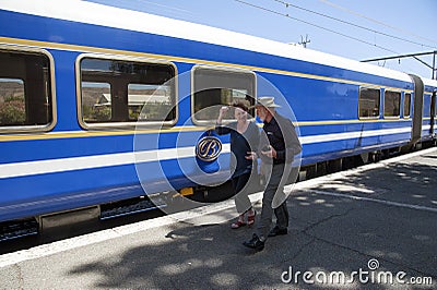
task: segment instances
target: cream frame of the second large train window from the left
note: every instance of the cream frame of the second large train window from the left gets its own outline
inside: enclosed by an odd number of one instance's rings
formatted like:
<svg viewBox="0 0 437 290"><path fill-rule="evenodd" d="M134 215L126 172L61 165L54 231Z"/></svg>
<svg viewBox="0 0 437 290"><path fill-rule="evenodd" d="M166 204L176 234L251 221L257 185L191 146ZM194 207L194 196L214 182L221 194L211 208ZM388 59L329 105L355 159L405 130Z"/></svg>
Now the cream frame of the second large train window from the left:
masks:
<svg viewBox="0 0 437 290"><path fill-rule="evenodd" d="M174 88L174 106L175 106L175 117L168 121L120 121L120 122L96 122L90 123L83 120L83 109L82 109L82 71L81 62L83 59L95 59L95 60L110 60L110 61L126 61L126 62L137 62L144 64L161 64L169 65L174 70L173 88ZM75 75L76 75L76 118L80 126L84 130L131 130L132 128L156 128L156 126L174 126L179 119L179 98L178 98L178 82L177 82L177 67L175 63L167 60L158 60L142 57L129 57L129 56L118 56L118 55L98 55L98 53L82 53L75 60ZM87 82L87 81L86 81ZM110 82L105 82L111 86ZM133 84L133 83L130 83ZM128 89L128 87L127 87Z"/></svg>

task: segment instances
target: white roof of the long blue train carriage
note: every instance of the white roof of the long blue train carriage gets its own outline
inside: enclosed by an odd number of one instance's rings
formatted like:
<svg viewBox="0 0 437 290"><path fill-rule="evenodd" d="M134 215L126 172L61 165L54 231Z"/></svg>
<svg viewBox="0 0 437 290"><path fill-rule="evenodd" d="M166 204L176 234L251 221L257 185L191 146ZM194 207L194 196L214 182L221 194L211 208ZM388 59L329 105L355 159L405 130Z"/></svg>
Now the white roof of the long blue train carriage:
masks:
<svg viewBox="0 0 437 290"><path fill-rule="evenodd" d="M0 0L0 9L227 46L411 82L409 75L402 72L308 48L94 2L81 0Z"/></svg>

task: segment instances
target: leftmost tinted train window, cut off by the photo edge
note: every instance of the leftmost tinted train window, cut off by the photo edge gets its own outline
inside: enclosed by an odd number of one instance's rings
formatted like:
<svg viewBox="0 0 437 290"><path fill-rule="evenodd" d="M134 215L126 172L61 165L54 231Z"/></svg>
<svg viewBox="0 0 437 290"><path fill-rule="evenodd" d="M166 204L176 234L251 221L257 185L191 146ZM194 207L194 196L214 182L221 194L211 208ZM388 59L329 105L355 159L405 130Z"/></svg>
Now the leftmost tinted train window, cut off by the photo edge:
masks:
<svg viewBox="0 0 437 290"><path fill-rule="evenodd" d="M0 49L0 130L48 130L55 124L50 60Z"/></svg>

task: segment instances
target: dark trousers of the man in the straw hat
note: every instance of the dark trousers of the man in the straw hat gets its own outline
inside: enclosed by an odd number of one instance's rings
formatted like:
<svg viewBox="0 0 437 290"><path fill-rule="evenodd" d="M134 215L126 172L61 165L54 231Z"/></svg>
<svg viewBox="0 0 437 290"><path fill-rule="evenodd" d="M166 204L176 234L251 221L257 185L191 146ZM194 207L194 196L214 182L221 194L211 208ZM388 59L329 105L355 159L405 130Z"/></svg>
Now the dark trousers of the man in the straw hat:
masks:
<svg viewBox="0 0 437 290"><path fill-rule="evenodd" d="M270 165L267 166L268 184L262 196L261 219L258 223L258 235L267 239L272 223L273 213L276 216L276 226L281 229L288 227L288 209L286 206L286 195L284 194L284 185L291 172L291 166ZM273 209L272 202L281 201L279 206ZM274 204L274 203L273 203Z"/></svg>

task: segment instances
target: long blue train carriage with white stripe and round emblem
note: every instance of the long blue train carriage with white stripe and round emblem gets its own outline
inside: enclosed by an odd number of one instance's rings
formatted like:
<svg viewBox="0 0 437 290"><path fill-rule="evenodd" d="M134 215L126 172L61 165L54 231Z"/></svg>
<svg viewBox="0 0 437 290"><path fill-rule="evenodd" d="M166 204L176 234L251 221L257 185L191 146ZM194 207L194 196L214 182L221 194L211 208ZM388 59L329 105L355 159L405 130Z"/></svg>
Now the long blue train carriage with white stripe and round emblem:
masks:
<svg viewBox="0 0 437 290"><path fill-rule="evenodd" d="M226 181L228 138L221 170L194 147L247 96L295 117L308 177L421 141L404 73L85 1L0 3L0 221Z"/></svg>

